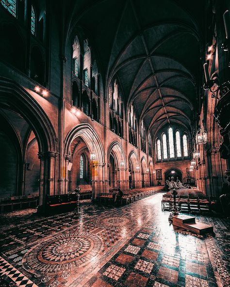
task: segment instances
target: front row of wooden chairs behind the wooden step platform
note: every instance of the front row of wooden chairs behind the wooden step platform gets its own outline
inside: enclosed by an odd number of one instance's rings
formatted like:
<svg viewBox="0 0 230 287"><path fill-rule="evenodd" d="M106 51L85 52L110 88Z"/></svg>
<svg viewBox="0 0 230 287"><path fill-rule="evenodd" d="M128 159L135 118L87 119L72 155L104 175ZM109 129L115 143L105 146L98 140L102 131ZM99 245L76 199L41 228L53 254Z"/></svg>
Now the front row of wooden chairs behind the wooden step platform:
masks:
<svg viewBox="0 0 230 287"><path fill-rule="evenodd" d="M208 196L197 195L179 195L176 196L176 205L179 211L204 212L211 211L212 201ZM162 211L171 210L173 207L173 196L171 194L163 194Z"/></svg>

